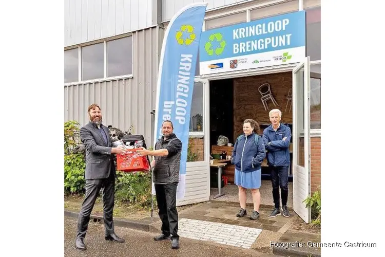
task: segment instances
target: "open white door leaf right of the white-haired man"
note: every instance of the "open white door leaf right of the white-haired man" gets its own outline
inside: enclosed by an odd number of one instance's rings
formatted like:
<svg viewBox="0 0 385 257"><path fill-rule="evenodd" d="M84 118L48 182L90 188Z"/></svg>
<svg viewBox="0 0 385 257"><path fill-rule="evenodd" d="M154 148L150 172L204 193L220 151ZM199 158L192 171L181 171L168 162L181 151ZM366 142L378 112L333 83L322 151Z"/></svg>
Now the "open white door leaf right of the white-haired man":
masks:
<svg viewBox="0 0 385 257"><path fill-rule="evenodd" d="M293 205L310 222L310 65L309 57L293 69Z"/></svg>

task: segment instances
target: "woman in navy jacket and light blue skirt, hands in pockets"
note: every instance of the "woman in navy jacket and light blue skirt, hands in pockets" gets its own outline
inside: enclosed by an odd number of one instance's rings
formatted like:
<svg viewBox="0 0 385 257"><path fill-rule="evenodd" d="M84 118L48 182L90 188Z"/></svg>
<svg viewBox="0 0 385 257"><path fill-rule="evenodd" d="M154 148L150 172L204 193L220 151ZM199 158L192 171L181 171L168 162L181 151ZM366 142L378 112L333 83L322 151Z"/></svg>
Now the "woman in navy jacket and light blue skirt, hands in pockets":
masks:
<svg viewBox="0 0 385 257"><path fill-rule="evenodd" d="M237 217L246 215L246 189L252 190L254 210L250 219L259 218L261 203L261 163L266 156L265 146L260 134L259 124L252 119L243 122L243 134L234 144L232 163L235 164L235 184L241 209Z"/></svg>

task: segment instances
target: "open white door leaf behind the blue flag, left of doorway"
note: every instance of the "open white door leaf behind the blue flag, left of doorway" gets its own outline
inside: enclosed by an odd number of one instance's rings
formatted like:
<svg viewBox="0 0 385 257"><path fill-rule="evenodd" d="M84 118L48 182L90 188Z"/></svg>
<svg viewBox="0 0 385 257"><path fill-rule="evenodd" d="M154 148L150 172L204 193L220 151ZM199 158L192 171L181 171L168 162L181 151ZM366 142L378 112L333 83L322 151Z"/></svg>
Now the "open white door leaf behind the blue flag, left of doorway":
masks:
<svg viewBox="0 0 385 257"><path fill-rule="evenodd" d="M187 160L186 193L183 199L177 199L177 206L210 200L209 94L208 80L195 78L189 137L193 138L196 144L192 152L199 154L199 156L198 160Z"/></svg>

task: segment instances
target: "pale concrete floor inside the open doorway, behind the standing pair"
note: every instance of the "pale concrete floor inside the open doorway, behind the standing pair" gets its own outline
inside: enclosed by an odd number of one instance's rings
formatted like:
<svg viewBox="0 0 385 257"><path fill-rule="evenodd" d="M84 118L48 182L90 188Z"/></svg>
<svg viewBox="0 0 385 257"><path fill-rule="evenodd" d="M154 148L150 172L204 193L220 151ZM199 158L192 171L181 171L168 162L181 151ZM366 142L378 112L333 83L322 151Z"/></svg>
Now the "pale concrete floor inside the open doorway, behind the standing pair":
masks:
<svg viewBox="0 0 385 257"><path fill-rule="evenodd" d="M273 194L272 194L272 181L262 180L262 185L259 189L261 194L261 205L265 206L274 206ZM289 193L287 197L287 207L293 208L293 182L288 182ZM232 203L238 203L238 186L237 185L226 185L221 189L222 193L225 193L223 196L214 199L214 196L218 194L218 188L210 189L210 200L214 201L227 201ZM252 192L251 190L246 191L246 203L252 204Z"/></svg>

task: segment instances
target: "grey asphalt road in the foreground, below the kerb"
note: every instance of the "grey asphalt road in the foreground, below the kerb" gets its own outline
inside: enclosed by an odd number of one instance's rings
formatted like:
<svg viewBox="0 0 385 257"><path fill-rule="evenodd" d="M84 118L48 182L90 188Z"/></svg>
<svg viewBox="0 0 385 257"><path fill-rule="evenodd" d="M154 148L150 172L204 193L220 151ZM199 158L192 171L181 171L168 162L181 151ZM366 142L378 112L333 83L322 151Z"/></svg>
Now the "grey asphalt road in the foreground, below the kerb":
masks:
<svg viewBox="0 0 385 257"><path fill-rule="evenodd" d="M156 256L273 256L272 254L253 251L252 249L242 249L232 246L225 246L180 238L180 249L171 249L170 241L156 242L153 236L159 233L144 232L115 226L115 232L125 239L124 243L114 243L104 240L104 225L90 223L85 237L86 251L75 248L76 219L66 217L64 220L64 255L66 257L75 256L136 256L136 257L156 257ZM274 256L278 256L274 254Z"/></svg>

